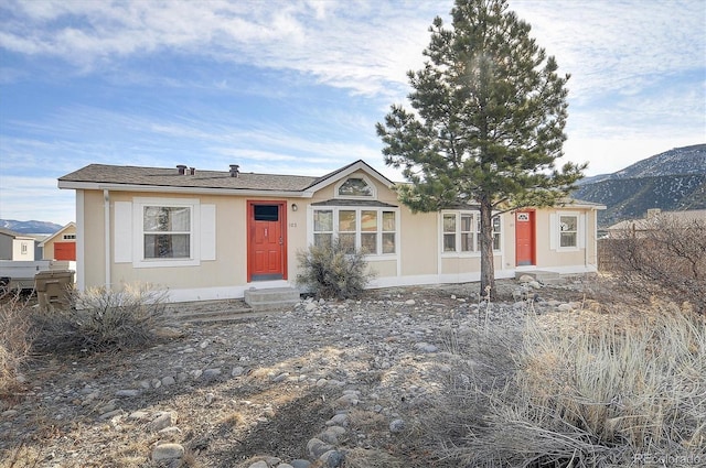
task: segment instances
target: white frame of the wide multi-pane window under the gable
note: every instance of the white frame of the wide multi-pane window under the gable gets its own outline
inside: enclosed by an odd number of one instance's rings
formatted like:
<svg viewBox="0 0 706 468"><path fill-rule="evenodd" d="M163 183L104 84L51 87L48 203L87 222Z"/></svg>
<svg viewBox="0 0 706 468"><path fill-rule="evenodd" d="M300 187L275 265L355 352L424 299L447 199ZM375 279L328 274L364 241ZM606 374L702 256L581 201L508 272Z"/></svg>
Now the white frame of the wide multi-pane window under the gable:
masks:
<svg viewBox="0 0 706 468"><path fill-rule="evenodd" d="M333 230L332 231L315 231L313 230L314 211L332 211L333 216ZM355 211L355 249L362 248L362 235L372 233L373 231L362 230L362 211L376 211L377 213L377 230L376 233L376 253L365 253L367 260L392 260L399 255L399 208L393 207L378 207L378 206L312 206L311 207L311 230L309 232L309 243L313 244L314 235L317 233L330 233L332 239L339 237L339 213L340 211ZM383 253L383 235L393 233L393 231L384 230L383 214L395 214L395 252ZM346 233L353 233L353 231L345 231Z"/></svg>

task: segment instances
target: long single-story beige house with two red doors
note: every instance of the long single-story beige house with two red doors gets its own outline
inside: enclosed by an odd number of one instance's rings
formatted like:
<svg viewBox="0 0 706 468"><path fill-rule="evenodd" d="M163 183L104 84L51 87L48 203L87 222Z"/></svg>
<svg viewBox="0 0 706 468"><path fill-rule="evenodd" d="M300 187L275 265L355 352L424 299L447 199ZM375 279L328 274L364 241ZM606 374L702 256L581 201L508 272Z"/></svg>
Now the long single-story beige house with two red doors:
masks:
<svg viewBox="0 0 706 468"><path fill-rule="evenodd" d="M92 164L76 191L77 286L142 282L172 301L291 286L297 252L340 238L367 251L372 286L480 280L479 211L413 214L363 161L322 177ZM576 202L495 221L495 273L597 271L597 210Z"/></svg>

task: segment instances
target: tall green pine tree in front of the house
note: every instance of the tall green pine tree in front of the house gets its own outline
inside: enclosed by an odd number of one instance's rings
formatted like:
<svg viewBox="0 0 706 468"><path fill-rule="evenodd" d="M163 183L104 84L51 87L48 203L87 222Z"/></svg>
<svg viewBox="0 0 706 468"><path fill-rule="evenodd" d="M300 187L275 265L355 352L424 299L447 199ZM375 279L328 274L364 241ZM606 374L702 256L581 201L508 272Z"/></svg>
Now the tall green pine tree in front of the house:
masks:
<svg viewBox="0 0 706 468"><path fill-rule="evenodd" d="M408 72L414 110L393 105L377 123L387 165L413 211L480 209L481 293L495 294L492 218L526 206L559 204L586 164L565 164L566 83L505 0L457 0L452 28L437 17Z"/></svg>

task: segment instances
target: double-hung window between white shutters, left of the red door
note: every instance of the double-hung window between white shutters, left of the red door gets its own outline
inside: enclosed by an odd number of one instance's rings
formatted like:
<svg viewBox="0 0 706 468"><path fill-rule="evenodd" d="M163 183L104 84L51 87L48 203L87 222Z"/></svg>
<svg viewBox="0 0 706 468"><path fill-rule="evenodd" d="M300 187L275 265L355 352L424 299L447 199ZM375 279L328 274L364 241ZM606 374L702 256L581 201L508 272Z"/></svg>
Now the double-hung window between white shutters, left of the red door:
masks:
<svg viewBox="0 0 706 468"><path fill-rule="evenodd" d="M142 207L143 259L191 259L192 207Z"/></svg>

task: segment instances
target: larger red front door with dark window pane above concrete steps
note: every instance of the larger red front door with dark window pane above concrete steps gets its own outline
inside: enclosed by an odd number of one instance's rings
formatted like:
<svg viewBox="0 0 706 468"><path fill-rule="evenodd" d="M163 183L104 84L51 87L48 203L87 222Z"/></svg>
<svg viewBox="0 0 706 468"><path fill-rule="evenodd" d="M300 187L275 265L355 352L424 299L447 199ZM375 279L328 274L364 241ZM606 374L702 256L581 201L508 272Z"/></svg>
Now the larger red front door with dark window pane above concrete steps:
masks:
<svg viewBox="0 0 706 468"><path fill-rule="evenodd" d="M287 280L287 203L247 204L247 281Z"/></svg>

